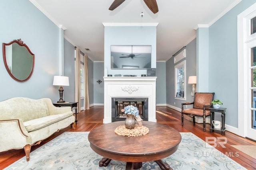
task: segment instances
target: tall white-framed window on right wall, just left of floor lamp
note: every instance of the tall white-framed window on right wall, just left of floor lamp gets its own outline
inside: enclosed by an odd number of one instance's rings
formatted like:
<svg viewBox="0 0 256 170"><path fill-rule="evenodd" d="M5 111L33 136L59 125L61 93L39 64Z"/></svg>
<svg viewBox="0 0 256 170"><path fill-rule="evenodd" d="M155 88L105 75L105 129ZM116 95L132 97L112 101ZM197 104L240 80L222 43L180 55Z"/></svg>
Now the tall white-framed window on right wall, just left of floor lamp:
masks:
<svg viewBox="0 0 256 170"><path fill-rule="evenodd" d="M186 100L186 61L175 65L175 99Z"/></svg>

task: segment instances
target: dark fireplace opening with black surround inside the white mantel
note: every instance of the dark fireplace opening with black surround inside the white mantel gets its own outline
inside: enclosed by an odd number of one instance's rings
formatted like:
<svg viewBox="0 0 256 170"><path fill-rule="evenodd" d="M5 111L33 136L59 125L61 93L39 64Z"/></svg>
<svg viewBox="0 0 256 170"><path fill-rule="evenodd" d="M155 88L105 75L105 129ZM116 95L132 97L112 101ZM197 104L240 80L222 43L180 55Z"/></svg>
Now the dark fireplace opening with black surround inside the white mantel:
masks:
<svg viewBox="0 0 256 170"><path fill-rule="evenodd" d="M142 120L148 121L148 98L111 98L112 122L126 119L126 114L121 111L124 104L136 106Z"/></svg>

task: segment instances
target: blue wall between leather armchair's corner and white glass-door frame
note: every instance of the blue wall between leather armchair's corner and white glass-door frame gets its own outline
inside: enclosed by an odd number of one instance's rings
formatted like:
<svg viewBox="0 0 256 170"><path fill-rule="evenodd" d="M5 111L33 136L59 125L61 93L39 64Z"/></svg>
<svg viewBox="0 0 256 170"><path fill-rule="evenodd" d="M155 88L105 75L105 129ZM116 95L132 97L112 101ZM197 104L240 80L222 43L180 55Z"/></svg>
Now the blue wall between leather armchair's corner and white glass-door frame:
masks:
<svg viewBox="0 0 256 170"><path fill-rule="evenodd" d="M242 0L209 27L209 91L223 101L226 124L233 127L238 127L237 16L255 2Z"/></svg>

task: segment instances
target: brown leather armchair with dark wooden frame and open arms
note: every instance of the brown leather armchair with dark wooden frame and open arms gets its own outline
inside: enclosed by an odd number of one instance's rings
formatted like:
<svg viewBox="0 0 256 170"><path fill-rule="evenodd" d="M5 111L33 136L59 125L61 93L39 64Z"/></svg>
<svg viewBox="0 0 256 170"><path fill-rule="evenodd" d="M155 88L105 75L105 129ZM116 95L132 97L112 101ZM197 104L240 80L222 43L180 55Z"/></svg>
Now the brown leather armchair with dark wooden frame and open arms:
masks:
<svg viewBox="0 0 256 170"><path fill-rule="evenodd" d="M212 106L212 100L215 93L195 93L194 102L181 104L181 124L183 126L184 114L193 117L193 123L196 123L195 116L203 117L203 125L205 131L206 117L210 116L209 108ZM193 108L184 109L184 105L193 105Z"/></svg>

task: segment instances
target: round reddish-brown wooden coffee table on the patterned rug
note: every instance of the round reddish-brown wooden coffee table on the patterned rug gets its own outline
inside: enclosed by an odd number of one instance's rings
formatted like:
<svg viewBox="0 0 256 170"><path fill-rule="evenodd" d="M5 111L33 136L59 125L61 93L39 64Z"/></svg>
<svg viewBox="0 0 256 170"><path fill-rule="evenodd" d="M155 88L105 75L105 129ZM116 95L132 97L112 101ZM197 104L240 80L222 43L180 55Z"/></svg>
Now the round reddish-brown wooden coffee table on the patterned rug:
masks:
<svg viewBox="0 0 256 170"><path fill-rule="evenodd" d="M88 141L97 154L103 156L99 166L108 166L114 159L124 161L126 170L139 169L142 162L155 161L162 170L172 170L161 159L173 154L179 147L181 135L164 124L142 121L149 133L144 136L127 137L117 135L114 130L124 121L103 124L90 131Z"/></svg>

